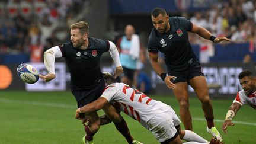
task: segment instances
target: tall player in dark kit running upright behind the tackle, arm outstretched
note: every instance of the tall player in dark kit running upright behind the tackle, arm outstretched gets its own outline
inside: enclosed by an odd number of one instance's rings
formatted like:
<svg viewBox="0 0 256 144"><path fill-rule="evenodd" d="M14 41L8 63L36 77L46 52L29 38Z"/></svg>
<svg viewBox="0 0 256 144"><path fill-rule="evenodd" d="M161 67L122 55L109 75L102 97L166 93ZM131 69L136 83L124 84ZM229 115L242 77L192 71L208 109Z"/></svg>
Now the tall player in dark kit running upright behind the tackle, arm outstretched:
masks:
<svg viewBox="0 0 256 144"><path fill-rule="evenodd" d="M188 85L191 85L201 101L204 117L207 120L207 132L222 142L222 137L213 121L213 107L206 78L188 41L188 31L214 43L230 40L226 37L214 37L205 28L191 23L184 17L169 17L162 8L153 9L151 19L154 26L148 40L151 65L167 87L172 89L180 103L180 117L185 129L193 130L188 97ZM167 73L158 62L159 51L165 55Z"/></svg>

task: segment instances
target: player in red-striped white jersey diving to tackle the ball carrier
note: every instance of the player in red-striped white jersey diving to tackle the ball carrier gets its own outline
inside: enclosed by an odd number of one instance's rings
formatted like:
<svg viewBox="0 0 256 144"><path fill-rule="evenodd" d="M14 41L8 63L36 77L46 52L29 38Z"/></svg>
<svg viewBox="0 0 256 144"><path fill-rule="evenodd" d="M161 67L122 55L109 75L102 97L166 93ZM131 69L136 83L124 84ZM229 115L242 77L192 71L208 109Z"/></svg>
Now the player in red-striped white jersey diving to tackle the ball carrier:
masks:
<svg viewBox="0 0 256 144"><path fill-rule="evenodd" d="M103 73L103 76L107 82L103 94L92 103L78 108L76 119L83 119L81 115L100 110L111 103L117 110L139 121L160 143L182 143L181 139L188 143L209 143L190 130L181 130L180 119L169 105L153 100L129 85L117 83L111 73ZM108 114L106 111L105 113ZM119 119L118 112L110 111L110 113L112 116L116 113L116 118ZM211 143L212 141L219 143L216 140L211 140Z"/></svg>

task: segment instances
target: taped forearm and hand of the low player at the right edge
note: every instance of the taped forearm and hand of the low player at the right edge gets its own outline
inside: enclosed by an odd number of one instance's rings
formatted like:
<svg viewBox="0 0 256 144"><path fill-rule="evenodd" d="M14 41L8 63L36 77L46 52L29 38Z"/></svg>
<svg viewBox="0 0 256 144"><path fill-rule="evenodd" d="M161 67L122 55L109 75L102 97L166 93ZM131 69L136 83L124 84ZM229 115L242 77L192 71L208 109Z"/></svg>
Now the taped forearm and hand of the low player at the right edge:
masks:
<svg viewBox="0 0 256 144"><path fill-rule="evenodd" d="M235 124L232 123L232 119L235 117L237 111L241 108L241 105L238 103L233 103L229 108L228 112L226 113L226 118L224 123L222 124L222 131L224 133L227 132L228 126L234 126Z"/></svg>

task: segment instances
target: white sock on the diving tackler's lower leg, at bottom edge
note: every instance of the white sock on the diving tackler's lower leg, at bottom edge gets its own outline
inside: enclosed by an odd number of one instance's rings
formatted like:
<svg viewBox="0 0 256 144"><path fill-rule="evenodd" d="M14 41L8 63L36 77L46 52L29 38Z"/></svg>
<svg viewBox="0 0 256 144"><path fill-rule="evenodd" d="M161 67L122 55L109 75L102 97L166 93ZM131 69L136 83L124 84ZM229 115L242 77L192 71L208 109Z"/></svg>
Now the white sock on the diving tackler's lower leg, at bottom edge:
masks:
<svg viewBox="0 0 256 144"><path fill-rule="evenodd" d="M185 130L183 140L187 142L209 143L203 137L197 135L195 132L192 132L191 130Z"/></svg>

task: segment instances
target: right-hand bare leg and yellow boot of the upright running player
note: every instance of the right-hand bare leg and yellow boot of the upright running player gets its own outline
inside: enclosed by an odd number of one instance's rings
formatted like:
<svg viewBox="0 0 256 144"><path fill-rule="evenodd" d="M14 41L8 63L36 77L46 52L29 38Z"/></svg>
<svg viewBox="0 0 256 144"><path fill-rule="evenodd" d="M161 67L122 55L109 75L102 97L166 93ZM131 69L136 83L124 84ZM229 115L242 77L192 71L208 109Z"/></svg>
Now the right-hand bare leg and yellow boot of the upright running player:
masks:
<svg viewBox="0 0 256 144"><path fill-rule="evenodd" d="M212 102L209 98L209 92L207 87L207 82L204 76L196 76L190 79L190 85L196 92L197 97L202 103L202 108L204 111L204 117L207 120L207 132L212 134L216 139L222 142L222 136L217 131L213 122L213 107Z"/></svg>

